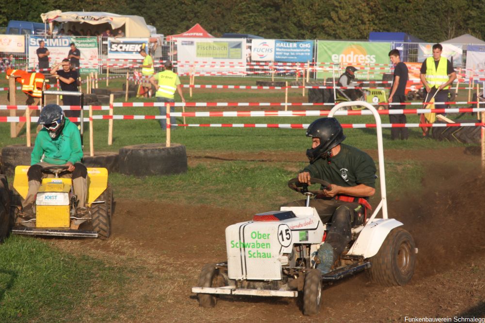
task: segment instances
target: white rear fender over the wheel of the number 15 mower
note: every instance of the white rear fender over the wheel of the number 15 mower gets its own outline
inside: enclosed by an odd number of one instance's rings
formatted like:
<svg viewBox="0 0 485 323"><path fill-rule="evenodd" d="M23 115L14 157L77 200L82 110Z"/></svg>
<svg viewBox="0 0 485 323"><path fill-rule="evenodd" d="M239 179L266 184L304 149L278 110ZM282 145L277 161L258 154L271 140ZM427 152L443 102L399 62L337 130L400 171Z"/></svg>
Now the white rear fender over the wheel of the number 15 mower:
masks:
<svg viewBox="0 0 485 323"><path fill-rule="evenodd" d="M364 259L375 256L389 232L402 225L403 223L395 219L372 219L360 231L347 255L363 256Z"/></svg>

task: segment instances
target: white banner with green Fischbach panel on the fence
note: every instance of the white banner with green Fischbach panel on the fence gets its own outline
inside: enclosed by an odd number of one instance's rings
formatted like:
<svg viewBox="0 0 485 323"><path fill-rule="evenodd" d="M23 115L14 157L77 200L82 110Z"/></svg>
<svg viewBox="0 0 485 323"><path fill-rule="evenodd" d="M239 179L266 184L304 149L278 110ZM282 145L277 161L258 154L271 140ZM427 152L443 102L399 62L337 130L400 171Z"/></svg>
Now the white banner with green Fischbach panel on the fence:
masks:
<svg viewBox="0 0 485 323"><path fill-rule="evenodd" d="M178 74L228 73L246 70L246 40L240 38L178 38ZM210 66L212 65L212 66Z"/></svg>

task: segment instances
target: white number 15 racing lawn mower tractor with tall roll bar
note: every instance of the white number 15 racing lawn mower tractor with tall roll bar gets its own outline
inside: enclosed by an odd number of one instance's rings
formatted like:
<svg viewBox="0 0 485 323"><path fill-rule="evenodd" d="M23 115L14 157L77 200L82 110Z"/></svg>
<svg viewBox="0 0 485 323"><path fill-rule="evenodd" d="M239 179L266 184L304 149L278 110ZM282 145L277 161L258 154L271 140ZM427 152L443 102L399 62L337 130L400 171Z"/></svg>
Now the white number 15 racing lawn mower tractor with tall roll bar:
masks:
<svg viewBox="0 0 485 323"><path fill-rule="evenodd" d="M328 274L317 269L315 255L324 243L330 224L322 223L310 198L322 193L308 190L306 184L292 179L291 189L307 197L305 207L281 207L254 215L247 222L226 228L227 261L202 268L197 293L199 305L215 306L221 295L298 297L303 293L303 312L316 315L320 310L323 283L368 270L371 280L384 286L403 286L413 276L416 253L413 237L403 223L388 218L381 120L377 110L362 101L342 102L342 107L364 106L372 111L377 124L381 200L361 226L352 229L352 241ZM330 184L312 178L312 184ZM382 211L382 218L376 215Z"/></svg>

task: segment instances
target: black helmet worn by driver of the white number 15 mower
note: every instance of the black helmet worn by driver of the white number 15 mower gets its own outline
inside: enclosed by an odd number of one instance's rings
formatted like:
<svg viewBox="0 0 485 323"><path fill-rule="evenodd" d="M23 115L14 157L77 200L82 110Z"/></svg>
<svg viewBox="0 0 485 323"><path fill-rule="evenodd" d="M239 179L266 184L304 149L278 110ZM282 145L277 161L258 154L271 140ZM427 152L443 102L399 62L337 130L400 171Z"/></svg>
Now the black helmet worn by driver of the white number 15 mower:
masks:
<svg viewBox="0 0 485 323"><path fill-rule="evenodd" d="M342 126L335 118L320 118L310 123L307 129L307 137L320 139L318 147L307 149L307 157L310 163L328 155L332 148L345 139Z"/></svg>

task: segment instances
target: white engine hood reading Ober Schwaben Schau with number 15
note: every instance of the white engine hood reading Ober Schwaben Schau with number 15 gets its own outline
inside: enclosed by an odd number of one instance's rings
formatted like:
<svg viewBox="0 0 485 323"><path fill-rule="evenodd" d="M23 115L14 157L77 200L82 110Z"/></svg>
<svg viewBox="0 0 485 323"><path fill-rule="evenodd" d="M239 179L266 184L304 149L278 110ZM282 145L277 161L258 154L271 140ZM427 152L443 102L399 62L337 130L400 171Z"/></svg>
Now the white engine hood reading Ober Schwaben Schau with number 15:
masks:
<svg viewBox="0 0 485 323"><path fill-rule="evenodd" d="M281 211L255 215L253 221L228 226L228 277L280 280L281 266L288 264L293 244L321 243L323 231L320 217L310 207L282 208Z"/></svg>

